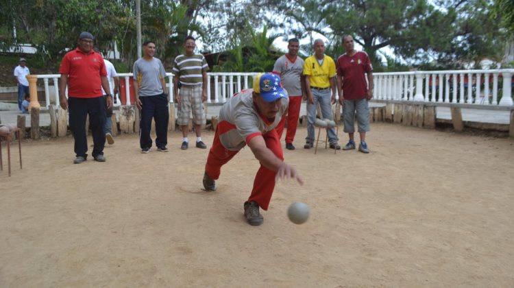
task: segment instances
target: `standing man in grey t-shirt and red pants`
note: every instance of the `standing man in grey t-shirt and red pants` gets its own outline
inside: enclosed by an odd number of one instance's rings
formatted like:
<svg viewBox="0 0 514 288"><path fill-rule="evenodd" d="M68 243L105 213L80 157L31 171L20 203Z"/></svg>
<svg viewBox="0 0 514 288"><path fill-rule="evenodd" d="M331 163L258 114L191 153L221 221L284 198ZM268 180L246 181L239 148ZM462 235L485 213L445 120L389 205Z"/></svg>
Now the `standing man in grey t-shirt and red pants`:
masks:
<svg viewBox="0 0 514 288"><path fill-rule="evenodd" d="M273 73L280 75L282 85L289 94L289 110L287 111L287 132L286 132L286 149L294 150L293 140L295 139L296 128L298 125L299 109L302 105L302 96L305 95L304 86L304 60L298 57L299 40L292 38L287 45L289 51L282 57L278 58L273 67ZM278 138L282 138L284 131L284 122L286 117L282 119L277 126Z"/></svg>

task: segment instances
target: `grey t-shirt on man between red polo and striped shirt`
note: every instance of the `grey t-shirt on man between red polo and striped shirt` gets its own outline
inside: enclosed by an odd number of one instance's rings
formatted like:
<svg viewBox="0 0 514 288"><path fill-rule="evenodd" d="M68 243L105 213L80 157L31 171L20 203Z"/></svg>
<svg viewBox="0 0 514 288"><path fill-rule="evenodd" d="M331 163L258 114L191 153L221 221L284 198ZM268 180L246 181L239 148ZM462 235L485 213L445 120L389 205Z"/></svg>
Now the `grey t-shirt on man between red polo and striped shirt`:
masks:
<svg viewBox="0 0 514 288"><path fill-rule="evenodd" d="M138 82L140 97L162 94L160 78L166 77L164 66L158 58L145 60L139 58L134 62L134 81Z"/></svg>

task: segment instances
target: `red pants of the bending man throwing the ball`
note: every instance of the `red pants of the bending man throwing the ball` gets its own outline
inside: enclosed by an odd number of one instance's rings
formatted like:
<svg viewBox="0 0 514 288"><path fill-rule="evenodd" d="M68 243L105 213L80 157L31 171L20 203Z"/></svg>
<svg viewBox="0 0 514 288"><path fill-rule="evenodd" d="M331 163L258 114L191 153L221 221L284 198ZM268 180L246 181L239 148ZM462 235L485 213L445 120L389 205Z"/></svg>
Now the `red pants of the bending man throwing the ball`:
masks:
<svg viewBox="0 0 514 288"><path fill-rule="evenodd" d="M223 122L219 123L218 128L220 125L223 125ZM210 147L209 156L207 157L207 163L205 165L208 176L214 180L219 178L221 166L228 163L228 161L238 153L238 151L225 149L225 147L221 145L218 131L219 129L216 129L215 139L212 143L212 147ZM266 147L278 158L284 160L284 152L282 152L282 146L280 145L280 139L278 138L276 130L273 129L266 134L262 134L262 137L266 142ZM259 204L260 208L268 210L269 201L271 200L273 189L275 189L276 174L276 171L267 169L261 164L255 176L254 188L248 198L248 202L255 201Z"/></svg>

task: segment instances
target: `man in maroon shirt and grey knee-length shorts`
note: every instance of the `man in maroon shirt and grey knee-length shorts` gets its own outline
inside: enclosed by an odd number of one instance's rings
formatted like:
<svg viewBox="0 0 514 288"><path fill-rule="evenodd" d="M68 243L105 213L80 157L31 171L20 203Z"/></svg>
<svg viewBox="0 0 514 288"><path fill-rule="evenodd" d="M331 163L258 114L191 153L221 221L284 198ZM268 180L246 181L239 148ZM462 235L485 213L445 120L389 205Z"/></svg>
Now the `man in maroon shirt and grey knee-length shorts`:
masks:
<svg viewBox="0 0 514 288"><path fill-rule="evenodd" d="M343 150L355 149L354 119L357 119L360 144L358 151L369 153L366 143L366 132L369 131L368 101L373 97L373 67L367 53L354 49L354 38L350 35L343 37L343 47L346 53L339 56L336 62L337 88L339 103L343 106L343 121L345 132L350 141ZM367 75L367 83L364 74Z"/></svg>

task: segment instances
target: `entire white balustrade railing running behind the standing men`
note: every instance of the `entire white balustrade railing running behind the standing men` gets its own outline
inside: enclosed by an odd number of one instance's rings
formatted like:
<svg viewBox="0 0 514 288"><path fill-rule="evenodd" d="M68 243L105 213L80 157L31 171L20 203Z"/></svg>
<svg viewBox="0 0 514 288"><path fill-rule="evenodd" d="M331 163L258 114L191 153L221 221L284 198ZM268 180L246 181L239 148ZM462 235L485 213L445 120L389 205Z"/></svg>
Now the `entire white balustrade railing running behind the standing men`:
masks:
<svg viewBox="0 0 514 288"><path fill-rule="evenodd" d="M374 73L374 98L512 106L513 74L514 69ZM257 73L208 73L207 104L223 104L234 93L251 88L255 75ZM45 106L59 105L60 75L37 77L45 85ZM119 77L121 82L130 83L132 73L120 73ZM167 80L169 101L173 103L173 73L167 73ZM122 89L124 91L120 93L125 97L125 104L133 104L130 100L132 86L124 85Z"/></svg>

